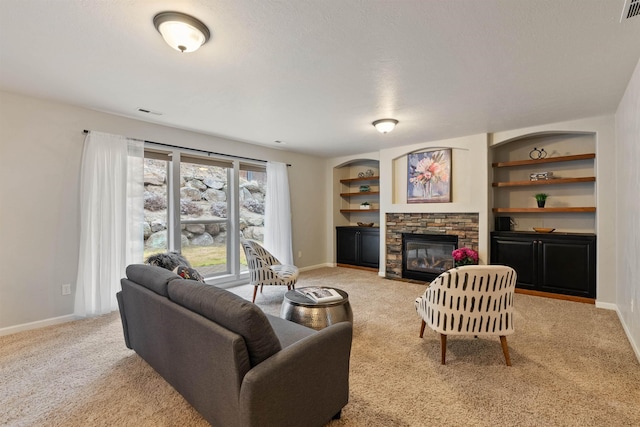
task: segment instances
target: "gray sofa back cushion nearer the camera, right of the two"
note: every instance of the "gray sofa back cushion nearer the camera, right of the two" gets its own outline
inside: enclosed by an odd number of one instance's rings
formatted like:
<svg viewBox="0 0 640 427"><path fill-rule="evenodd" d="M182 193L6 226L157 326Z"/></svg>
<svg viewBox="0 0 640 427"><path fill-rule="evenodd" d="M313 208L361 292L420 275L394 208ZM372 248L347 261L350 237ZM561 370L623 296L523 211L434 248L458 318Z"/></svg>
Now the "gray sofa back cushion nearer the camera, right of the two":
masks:
<svg viewBox="0 0 640 427"><path fill-rule="evenodd" d="M194 280L172 280L168 290L175 303L241 335L252 366L282 349L267 316L250 301Z"/></svg>

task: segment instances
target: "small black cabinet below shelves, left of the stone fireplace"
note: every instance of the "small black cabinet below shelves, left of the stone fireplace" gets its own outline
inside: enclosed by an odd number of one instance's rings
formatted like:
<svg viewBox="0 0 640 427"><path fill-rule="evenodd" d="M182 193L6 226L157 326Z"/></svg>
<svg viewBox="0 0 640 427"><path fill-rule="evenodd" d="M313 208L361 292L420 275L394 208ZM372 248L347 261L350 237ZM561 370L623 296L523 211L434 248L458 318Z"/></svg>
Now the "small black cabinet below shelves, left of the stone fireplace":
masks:
<svg viewBox="0 0 640 427"><path fill-rule="evenodd" d="M336 227L336 261L360 267L380 265L380 229L378 227Z"/></svg>

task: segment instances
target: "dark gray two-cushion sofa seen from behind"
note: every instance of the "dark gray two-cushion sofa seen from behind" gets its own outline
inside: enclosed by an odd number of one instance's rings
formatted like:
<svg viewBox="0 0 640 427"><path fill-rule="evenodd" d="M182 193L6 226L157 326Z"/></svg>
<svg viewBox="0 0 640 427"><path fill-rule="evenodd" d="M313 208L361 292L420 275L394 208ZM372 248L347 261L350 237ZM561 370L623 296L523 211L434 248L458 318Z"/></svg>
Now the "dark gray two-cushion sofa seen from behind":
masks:
<svg viewBox="0 0 640 427"><path fill-rule="evenodd" d="M315 331L142 264L117 296L127 347L213 426L321 426L347 404L349 322Z"/></svg>

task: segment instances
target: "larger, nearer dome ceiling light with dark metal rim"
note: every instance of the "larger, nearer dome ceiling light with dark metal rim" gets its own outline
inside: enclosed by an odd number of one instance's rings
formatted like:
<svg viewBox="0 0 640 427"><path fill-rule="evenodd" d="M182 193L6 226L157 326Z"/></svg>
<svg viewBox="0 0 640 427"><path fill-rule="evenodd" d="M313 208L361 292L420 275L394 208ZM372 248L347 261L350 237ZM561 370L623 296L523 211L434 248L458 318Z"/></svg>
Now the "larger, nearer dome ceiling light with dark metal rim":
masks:
<svg viewBox="0 0 640 427"><path fill-rule="evenodd" d="M153 17L153 25L169 46L180 52L193 52L209 40L206 25L193 16L180 12L161 12Z"/></svg>

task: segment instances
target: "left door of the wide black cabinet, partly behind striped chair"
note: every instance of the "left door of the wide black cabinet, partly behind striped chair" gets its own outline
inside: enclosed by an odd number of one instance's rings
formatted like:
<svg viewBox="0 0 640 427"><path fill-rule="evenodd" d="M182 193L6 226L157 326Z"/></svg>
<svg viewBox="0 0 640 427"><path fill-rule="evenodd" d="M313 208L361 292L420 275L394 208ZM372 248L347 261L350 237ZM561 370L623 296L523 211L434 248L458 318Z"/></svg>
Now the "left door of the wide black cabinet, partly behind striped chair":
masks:
<svg viewBox="0 0 640 427"><path fill-rule="evenodd" d="M513 268L518 275L517 287L536 289L536 261L536 243L533 238L492 237L491 263L507 265Z"/></svg>

